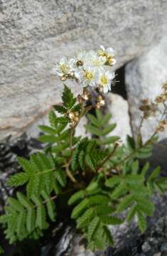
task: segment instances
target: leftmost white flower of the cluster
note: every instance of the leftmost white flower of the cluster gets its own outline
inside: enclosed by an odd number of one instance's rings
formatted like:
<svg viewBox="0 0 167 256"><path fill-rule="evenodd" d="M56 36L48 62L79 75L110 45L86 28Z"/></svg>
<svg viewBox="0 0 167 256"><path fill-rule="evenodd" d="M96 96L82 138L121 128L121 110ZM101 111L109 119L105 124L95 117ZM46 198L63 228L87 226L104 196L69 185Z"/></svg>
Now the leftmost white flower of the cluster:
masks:
<svg viewBox="0 0 167 256"><path fill-rule="evenodd" d="M74 72L74 64L75 59L73 58L70 60L67 58L61 58L59 63L55 63L53 72L60 77L72 74Z"/></svg>

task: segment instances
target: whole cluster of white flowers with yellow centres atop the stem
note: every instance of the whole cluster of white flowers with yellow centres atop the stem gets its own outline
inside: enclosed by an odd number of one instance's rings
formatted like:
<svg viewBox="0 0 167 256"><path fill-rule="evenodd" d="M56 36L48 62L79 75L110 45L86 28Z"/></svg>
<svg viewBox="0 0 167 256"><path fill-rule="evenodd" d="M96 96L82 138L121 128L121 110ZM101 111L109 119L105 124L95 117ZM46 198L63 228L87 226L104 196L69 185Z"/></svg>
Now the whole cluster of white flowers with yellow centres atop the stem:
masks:
<svg viewBox="0 0 167 256"><path fill-rule="evenodd" d="M97 52L93 50L82 51L75 58L62 58L55 63L53 71L65 81L75 79L83 87L98 87L101 92L111 90L114 73L109 70L116 63L114 50L100 46Z"/></svg>

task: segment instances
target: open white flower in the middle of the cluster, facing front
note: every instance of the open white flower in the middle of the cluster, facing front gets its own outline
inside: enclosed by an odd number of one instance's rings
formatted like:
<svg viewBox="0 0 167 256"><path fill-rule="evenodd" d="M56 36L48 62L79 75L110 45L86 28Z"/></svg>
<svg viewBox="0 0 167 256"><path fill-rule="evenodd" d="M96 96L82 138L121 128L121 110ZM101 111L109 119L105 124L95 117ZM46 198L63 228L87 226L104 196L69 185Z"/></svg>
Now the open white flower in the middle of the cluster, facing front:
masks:
<svg viewBox="0 0 167 256"><path fill-rule="evenodd" d="M98 73L95 68L87 67L82 70L78 70L75 72L75 77L83 87L87 87L88 85L95 87L97 85Z"/></svg>

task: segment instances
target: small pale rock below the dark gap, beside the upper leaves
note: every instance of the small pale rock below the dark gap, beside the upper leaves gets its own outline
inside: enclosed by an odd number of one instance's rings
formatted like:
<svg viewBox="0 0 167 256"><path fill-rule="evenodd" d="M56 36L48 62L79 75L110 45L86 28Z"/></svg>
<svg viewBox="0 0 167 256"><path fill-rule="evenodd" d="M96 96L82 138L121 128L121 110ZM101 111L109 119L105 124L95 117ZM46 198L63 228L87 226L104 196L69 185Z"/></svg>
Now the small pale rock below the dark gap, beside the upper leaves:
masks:
<svg viewBox="0 0 167 256"><path fill-rule="evenodd" d="M117 123L117 127L109 136L120 136L123 141L127 135L131 135L128 102L122 96L109 93L107 95L108 112L112 114L112 123Z"/></svg>

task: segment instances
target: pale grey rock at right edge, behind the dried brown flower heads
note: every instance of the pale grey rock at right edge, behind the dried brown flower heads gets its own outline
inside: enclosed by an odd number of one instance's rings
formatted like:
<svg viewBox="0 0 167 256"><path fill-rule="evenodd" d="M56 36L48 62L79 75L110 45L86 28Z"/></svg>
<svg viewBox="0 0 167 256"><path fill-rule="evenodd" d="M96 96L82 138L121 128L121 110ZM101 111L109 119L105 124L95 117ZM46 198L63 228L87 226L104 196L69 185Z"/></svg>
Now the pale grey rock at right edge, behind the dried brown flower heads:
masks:
<svg viewBox="0 0 167 256"><path fill-rule="evenodd" d="M162 92L161 86L167 81L167 36L157 46L149 50L140 58L126 65L126 90L131 114L131 127L134 136L138 131L141 111L141 100L149 98L153 100ZM160 114L158 114L159 119ZM144 121L141 128L144 140L148 139L155 131L157 119L149 118ZM167 137L167 131L160 134L160 139Z"/></svg>

